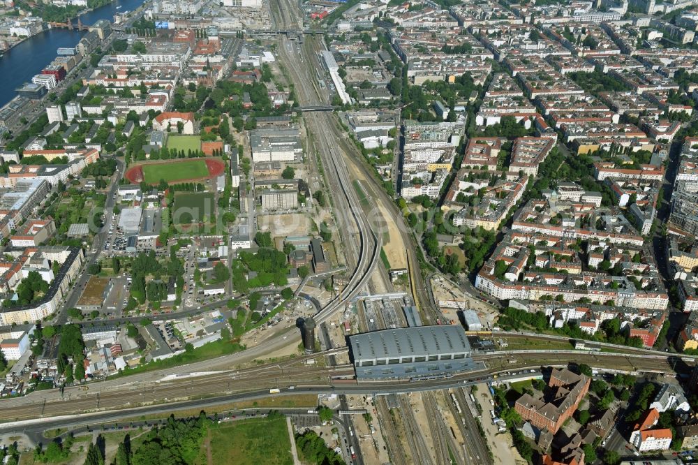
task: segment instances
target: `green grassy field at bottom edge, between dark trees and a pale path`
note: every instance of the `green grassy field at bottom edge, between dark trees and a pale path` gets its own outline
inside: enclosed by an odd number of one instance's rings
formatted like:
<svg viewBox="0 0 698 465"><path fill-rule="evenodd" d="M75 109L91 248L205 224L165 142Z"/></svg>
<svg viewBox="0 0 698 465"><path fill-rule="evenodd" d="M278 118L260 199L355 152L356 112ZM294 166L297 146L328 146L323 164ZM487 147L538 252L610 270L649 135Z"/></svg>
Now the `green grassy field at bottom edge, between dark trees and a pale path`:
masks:
<svg viewBox="0 0 698 465"><path fill-rule="evenodd" d="M255 418L214 426L195 465L291 465L290 441L285 418Z"/></svg>

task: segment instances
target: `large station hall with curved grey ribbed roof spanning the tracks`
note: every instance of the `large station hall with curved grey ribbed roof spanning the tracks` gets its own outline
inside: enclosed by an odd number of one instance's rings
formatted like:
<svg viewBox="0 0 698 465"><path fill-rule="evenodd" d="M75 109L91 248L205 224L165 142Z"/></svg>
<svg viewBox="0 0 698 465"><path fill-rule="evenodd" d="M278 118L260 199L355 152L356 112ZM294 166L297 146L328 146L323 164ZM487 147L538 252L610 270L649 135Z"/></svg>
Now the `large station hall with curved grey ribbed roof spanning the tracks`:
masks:
<svg viewBox="0 0 698 465"><path fill-rule="evenodd" d="M480 368L461 325L396 328L349 337L357 378L440 376Z"/></svg>

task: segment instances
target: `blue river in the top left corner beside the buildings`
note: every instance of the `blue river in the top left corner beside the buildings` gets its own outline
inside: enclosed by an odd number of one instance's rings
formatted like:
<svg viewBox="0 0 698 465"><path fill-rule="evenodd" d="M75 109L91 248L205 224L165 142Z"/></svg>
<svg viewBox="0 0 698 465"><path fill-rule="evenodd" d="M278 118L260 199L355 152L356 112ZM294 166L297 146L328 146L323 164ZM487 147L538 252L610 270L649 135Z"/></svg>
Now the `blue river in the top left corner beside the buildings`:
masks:
<svg viewBox="0 0 698 465"><path fill-rule="evenodd" d="M98 20L114 21L114 13L133 11L143 3L143 0L116 0L85 13L80 17L82 24L91 25ZM117 9L117 7L121 7ZM77 21L77 20L76 20ZM47 29L32 36L16 47L5 52L0 58L0 76L3 85L0 86L0 107L15 98L15 89L56 58L59 47L75 47L85 31L68 29Z"/></svg>

